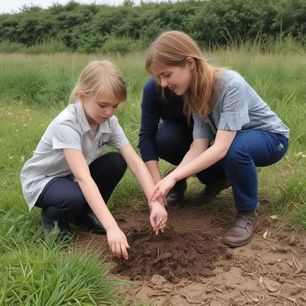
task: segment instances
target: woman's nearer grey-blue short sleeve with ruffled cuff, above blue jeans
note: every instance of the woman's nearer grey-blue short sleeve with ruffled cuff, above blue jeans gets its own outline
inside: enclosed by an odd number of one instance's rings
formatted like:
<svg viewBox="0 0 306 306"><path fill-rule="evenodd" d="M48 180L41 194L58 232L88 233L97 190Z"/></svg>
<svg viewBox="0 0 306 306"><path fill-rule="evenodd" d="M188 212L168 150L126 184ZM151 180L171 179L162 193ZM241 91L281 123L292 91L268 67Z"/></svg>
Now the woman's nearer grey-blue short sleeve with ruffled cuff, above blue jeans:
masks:
<svg viewBox="0 0 306 306"><path fill-rule="evenodd" d="M229 83L224 91L218 130L239 131L244 124L250 122L244 85L239 82Z"/></svg>

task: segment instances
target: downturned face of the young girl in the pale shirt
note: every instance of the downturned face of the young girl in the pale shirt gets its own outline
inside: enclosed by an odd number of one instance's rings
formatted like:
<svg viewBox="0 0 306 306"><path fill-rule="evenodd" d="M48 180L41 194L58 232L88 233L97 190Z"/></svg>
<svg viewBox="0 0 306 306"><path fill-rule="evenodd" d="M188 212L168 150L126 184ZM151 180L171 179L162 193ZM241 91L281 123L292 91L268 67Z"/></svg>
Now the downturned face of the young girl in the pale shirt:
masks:
<svg viewBox="0 0 306 306"><path fill-rule="evenodd" d="M104 123L114 116L120 101L116 100L110 91L103 94L85 97L82 91L78 93L84 105L85 115L89 124Z"/></svg>

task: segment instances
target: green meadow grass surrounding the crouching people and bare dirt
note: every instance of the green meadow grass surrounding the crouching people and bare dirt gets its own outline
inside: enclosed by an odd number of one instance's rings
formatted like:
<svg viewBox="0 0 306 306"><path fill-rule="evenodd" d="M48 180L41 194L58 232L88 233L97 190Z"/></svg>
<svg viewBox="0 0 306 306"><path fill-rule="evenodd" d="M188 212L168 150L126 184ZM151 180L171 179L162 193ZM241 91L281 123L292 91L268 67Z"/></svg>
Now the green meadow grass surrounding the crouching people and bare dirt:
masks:
<svg viewBox="0 0 306 306"><path fill-rule="evenodd" d="M276 48L277 47L277 48ZM259 173L263 211L280 215L297 229L306 230L306 55L305 50L277 45L269 52L255 46L205 51L215 65L241 73L290 128L286 157ZM271 51L272 50L272 51ZM121 69L129 101L117 116L138 150L140 102L148 78L144 54L104 56ZM39 209L30 213L24 201L20 170L32 156L52 119L67 105L77 76L94 55L0 54L0 304L1 305L116 305L116 287L124 285L108 275L99 254L80 254L44 237ZM108 148L107 151L112 150ZM304 151L303 154L298 154ZM160 161L162 173L171 166ZM188 193L201 188L190 179ZM220 197L221 206L233 197ZM221 203L221 204L220 204ZM129 171L108 202L111 211L137 210L146 205L143 192ZM59 258L61 260L59 260Z"/></svg>

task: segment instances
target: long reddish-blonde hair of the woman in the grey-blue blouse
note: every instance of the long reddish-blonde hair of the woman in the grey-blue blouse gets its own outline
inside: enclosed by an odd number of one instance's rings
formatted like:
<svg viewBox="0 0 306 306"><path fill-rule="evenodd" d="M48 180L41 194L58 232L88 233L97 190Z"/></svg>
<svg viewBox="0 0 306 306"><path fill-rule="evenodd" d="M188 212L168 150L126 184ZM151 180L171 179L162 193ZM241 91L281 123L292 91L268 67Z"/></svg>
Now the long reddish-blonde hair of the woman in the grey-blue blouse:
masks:
<svg viewBox="0 0 306 306"><path fill-rule="evenodd" d="M146 70L161 86L160 79L154 74L152 66L184 66L186 59L192 57L196 62L192 70L191 86L183 95L184 112L190 119L193 112L206 117L212 110L212 95L216 90L215 73L226 68L209 65L196 42L187 34L179 31L162 33L150 46L146 57ZM162 88L164 97L164 89Z"/></svg>

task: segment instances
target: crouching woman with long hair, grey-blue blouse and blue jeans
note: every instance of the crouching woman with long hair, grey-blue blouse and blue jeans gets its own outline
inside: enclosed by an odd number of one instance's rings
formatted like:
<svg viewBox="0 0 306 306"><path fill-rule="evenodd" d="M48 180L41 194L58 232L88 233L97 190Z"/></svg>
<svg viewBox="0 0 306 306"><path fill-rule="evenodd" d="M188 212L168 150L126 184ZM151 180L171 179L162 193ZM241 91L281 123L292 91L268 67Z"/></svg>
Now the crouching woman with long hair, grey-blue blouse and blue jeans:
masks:
<svg viewBox="0 0 306 306"><path fill-rule="evenodd" d="M159 36L147 53L146 69L163 88L183 96L194 119L192 147L156 184L150 200L164 197L177 181L194 174L210 185L212 197L231 185L237 218L223 243L248 244L259 229L256 166L272 165L285 155L289 129L240 74L209 65L182 32ZM208 147L211 139L214 144Z"/></svg>

